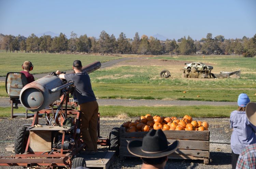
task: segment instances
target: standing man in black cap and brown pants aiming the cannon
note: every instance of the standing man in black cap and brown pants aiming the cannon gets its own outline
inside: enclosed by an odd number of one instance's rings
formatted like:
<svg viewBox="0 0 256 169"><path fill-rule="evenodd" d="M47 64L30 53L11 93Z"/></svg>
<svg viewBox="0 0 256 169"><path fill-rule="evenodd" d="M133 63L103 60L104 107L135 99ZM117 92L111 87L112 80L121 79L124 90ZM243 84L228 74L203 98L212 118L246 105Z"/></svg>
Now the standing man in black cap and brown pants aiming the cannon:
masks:
<svg viewBox="0 0 256 169"><path fill-rule="evenodd" d="M78 99L81 112L81 134L86 145L86 151L81 153L95 154L98 151L97 122L99 106L91 88L90 77L86 72L82 71L81 61L75 60L72 68L75 73L61 74L60 71L57 70L56 74L59 74L60 79L74 81L75 95Z"/></svg>

